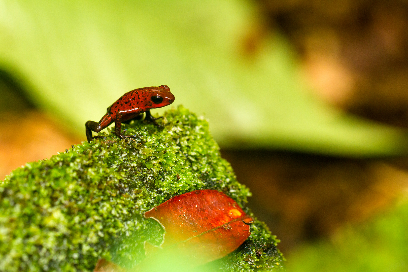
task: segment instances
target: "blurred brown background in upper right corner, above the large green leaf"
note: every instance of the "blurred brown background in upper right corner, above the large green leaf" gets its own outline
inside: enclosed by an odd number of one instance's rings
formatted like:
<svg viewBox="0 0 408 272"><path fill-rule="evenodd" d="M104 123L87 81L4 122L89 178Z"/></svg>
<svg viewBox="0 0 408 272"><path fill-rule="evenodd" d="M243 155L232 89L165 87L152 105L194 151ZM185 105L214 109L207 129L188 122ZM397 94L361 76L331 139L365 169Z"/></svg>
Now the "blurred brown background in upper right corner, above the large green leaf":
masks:
<svg viewBox="0 0 408 272"><path fill-rule="evenodd" d="M373 120L408 125L408 2L259 1L292 42L317 95Z"/></svg>

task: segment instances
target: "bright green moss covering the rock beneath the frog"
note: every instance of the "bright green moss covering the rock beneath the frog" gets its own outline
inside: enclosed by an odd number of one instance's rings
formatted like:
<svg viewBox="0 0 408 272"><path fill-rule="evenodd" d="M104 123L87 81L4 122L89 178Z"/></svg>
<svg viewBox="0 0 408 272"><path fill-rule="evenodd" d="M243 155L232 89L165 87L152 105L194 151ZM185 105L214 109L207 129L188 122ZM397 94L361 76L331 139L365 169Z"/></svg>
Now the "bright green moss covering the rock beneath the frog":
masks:
<svg viewBox="0 0 408 272"><path fill-rule="evenodd" d="M179 106L158 119L113 133L50 159L26 164L0 181L0 271L92 271L100 258L132 268L144 242L159 245L163 229L144 212L198 189L225 192L245 207L239 184L208 123ZM220 271L279 271L278 240L255 220L251 236L215 261Z"/></svg>

